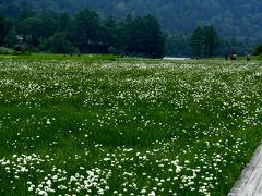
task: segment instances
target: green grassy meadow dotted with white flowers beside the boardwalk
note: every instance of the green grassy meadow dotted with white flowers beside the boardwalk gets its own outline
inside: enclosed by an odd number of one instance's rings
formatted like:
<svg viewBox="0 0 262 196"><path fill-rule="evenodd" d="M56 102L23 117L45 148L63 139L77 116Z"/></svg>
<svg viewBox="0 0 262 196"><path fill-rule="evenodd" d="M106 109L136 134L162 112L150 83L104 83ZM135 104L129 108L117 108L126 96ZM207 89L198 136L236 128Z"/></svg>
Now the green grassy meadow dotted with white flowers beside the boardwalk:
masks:
<svg viewBox="0 0 262 196"><path fill-rule="evenodd" d="M226 195L262 63L0 61L0 195Z"/></svg>

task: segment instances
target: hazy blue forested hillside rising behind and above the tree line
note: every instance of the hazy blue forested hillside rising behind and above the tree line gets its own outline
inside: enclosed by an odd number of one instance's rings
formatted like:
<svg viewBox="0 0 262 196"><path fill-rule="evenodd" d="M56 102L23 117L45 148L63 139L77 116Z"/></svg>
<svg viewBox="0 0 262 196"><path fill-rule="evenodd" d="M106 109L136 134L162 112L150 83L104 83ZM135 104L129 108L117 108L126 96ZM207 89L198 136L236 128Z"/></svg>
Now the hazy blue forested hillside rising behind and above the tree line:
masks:
<svg viewBox="0 0 262 196"><path fill-rule="evenodd" d="M84 8L100 16L123 19L128 14L154 14L169 34L192 34L198 25L213 24L221 37L262 41L260 0L0 0L0 12L14 16L21 9L69 12Z"/></svg>

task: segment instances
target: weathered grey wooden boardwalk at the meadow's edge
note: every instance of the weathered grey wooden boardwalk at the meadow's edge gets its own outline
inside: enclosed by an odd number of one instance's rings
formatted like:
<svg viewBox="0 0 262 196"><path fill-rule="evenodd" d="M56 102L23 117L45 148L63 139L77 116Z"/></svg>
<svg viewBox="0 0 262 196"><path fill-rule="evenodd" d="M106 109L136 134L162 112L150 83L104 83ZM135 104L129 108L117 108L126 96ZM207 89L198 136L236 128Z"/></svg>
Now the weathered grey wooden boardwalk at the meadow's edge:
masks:
<svg viewBox="0 0 262 196"><path fill-rule="evenodd" d="M262 145L255 150L228 196L262 196Z"/></svg>

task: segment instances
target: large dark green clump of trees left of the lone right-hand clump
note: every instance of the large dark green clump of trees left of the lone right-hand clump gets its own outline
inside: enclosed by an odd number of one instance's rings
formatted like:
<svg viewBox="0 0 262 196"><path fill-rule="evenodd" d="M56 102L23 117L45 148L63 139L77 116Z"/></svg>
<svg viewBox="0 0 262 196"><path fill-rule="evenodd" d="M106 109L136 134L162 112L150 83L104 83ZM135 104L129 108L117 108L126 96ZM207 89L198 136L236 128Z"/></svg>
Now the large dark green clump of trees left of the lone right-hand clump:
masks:
<svg viewBox="0 0 262 196"><path fill-rule="evenodd" d="M102 20L88 9L75 16L25 10L17 19L0 16L0 45L21 51L162 58L165 35L150 14L117 21L110 16Z"/></svg>

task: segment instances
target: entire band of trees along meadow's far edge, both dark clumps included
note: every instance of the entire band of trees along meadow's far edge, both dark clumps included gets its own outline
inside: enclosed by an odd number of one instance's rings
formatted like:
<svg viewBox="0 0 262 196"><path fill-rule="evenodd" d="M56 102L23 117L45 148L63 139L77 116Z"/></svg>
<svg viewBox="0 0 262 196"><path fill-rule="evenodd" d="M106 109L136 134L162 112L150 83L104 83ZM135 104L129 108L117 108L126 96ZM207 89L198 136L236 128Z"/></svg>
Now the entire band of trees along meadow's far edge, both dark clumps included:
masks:
<svg viewBox="0 0 262 196"><path fill-rule="evenodd" d="M116 20L112 16L102 19L88 9L71 16L56 12L37 14L26 7L16 17L0 14L0 46L29 52L118 53L151 58L165 54L211 58L253 50L235 38L219 38L212 25L198 26L192 35L168 35L151 14Z"/></svg>

